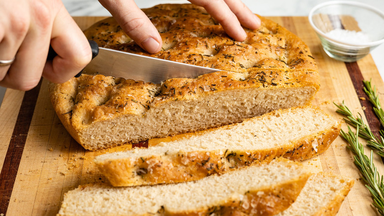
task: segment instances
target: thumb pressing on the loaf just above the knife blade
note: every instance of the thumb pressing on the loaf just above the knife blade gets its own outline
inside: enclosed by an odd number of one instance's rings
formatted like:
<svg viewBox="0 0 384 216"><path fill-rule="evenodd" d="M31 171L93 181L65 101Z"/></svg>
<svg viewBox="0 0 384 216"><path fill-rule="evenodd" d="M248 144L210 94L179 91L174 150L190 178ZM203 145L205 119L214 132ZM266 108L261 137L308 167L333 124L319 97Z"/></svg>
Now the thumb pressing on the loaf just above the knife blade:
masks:
<svg viewBox="0 0 384 216"><path fill-rule="evenodd" d="M159 52L162 40L158 30L133 0L99 0L127 35L149 53Z"/></svg>

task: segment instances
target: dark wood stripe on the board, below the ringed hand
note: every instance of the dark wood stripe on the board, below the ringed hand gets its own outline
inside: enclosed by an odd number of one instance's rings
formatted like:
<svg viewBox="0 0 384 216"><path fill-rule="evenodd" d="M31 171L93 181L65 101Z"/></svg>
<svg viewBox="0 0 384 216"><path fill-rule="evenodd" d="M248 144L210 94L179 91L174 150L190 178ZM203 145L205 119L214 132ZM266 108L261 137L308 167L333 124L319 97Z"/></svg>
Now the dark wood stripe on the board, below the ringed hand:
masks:
<svg viewBox="0 0 384 216"><path fill-rule="evenodd" d="M0 214L6 215L8 209L40 86L41 80L35 88L25 92L12 137L9 141L8 150L0 173Z"/></svg>

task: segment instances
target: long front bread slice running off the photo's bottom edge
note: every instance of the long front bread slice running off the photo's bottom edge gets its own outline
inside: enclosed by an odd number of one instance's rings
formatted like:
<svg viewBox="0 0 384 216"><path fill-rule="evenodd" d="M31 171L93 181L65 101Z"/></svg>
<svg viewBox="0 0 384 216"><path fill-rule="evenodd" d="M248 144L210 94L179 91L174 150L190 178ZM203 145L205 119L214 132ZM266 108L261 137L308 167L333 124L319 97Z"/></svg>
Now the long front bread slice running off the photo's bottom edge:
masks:
<svg viewBox="0 0 384 216"><path fill-rule="evenodd" d="M297 162L274 160L176 184L88 184L64 194L59 216L223 215L231 209L271 216L294 202L309 176Z"/></svg>

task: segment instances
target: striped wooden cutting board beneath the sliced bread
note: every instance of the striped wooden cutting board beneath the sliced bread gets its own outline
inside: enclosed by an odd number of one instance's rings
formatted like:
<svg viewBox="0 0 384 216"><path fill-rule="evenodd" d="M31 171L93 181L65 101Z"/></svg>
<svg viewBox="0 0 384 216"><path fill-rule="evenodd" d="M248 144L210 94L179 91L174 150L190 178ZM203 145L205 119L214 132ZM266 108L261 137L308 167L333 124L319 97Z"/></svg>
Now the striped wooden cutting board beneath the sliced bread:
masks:
<svg viewBox="0 0 384 216"><path fill-rule="evenodd" d="M85 29L102 18L74 19L81 29ZM357 63L333 60L322 50L320 40L306 17L270 19L302 38L318 63L321 87L312 104L340 118L332 102L345 101L354 114L361 113L377 132L380 123L372 112L372 106L364 100L367 97L362 91L362 80L372 79L384 103L384 83L372 57L369 55ZM8 89L5 93L0 108L0 215L56 215L66 191L79 184L105 180L92 162L95 155L105 151L84 150L69 136L50 104L47 87L48 81L43 79L31 91L24 93ZM346 124L342 128L346 130ZM153 139L148 144L178 137ZM130 145L107 151L127 148ZM365 152L370 152L370 149L365 148ZM382 159L375 155L374 162L378 171L384 174ZM377 214L371 205L369 191L353 164L352 153L342 138L338 137L326 152L302 163L313 172L332 172L355 180L338 215Z"/></svg>

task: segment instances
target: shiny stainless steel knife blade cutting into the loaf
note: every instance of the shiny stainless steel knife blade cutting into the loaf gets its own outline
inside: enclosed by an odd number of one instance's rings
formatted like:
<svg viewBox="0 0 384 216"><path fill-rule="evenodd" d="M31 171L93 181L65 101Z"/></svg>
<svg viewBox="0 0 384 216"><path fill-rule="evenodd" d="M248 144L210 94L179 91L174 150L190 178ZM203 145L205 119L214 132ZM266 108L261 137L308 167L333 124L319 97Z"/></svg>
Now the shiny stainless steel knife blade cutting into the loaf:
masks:
<svg viewBox="0 0 384 216"><path fill-rule="evenodd" d="M221 70L99 47L98 55L85 67L83 73L161 83L170 78L195 78L217 71Z"/></svg>

